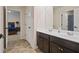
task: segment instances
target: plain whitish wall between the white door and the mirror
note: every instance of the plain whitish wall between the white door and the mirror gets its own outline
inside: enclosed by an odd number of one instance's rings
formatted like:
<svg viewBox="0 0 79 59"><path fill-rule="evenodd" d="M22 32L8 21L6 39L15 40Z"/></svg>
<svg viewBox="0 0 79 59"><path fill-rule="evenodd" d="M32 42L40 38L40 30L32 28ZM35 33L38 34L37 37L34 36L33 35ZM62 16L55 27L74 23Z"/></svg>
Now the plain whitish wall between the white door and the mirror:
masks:
<svg viewBox="0 0 79 59"><path fill-rule="evenodd" d="M53 28L53 7L51 6L35 6L34 17L37 19L38 28Z"/></svg>

